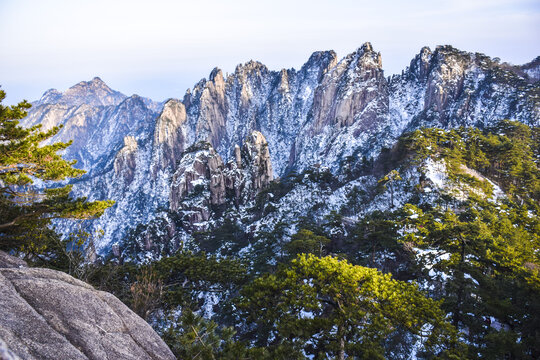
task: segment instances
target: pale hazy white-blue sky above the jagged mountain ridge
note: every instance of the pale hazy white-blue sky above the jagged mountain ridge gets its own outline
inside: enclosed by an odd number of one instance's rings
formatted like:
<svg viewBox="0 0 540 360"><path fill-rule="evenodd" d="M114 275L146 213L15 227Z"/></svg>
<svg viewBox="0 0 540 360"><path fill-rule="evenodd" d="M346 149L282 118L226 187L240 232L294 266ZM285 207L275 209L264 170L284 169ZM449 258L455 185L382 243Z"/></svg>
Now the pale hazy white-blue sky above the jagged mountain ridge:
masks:
<svg viewBox="0 0 540 360"><path fill-rule="evenodd" d="M0 86L15 103L100 76L164 100L215 66L300 68L366 41L386 75L425 45L522 64L540 55L540 0L0 0Z"/></svg>

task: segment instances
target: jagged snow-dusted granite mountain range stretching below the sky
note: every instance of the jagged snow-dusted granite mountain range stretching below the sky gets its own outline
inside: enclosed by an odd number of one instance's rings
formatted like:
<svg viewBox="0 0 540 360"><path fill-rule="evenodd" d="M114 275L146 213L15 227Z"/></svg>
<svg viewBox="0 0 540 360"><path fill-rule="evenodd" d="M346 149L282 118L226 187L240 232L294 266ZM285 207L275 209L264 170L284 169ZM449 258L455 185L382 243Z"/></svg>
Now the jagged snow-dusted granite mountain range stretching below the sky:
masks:
<svg viewBox="0 0 540 360"><path fill-rule="evenodd" d="M88 171L74 181L75 194L116 200L90 225L105 232L95 243L100 253L119 253L129 241L170 252L225 218L257 234L338 210L353 187L377 182L352 170L379 161L404 132L482 129L501 119L539 126L539 66L538 58L512 66L438 46L385 77L381 54L365 43L341 60L315 52L299 70L249 61L224 77L216 68L182 100L164 103L95 78L47 91L25 125L63 125L51 141L73 139L65 156ZM307 178L286 181L295 174ZM309 177L337 180L321 187ZM277 211L261 208L268 186L285 192L268 202Z"/></svg>

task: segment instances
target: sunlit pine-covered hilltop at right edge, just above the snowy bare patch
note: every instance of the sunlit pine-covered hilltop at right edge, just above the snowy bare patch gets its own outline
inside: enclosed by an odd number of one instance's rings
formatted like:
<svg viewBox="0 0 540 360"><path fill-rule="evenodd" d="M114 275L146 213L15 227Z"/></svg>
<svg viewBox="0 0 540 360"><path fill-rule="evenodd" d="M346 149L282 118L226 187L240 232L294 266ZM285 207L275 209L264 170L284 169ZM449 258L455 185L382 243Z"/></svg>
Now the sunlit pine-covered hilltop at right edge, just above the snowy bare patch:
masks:
<svg viewBox="0 0 540 360"><path fill-rule="evenodd" d="M403 137L400 146L412 154L413 163L428 157L444 159L455 180L489 189L489 184L467 174L464 166L474 169L499 184L515 201L527 202L538 210L539 142L538 128L504 120L485 130L420 129Z"/></svg>

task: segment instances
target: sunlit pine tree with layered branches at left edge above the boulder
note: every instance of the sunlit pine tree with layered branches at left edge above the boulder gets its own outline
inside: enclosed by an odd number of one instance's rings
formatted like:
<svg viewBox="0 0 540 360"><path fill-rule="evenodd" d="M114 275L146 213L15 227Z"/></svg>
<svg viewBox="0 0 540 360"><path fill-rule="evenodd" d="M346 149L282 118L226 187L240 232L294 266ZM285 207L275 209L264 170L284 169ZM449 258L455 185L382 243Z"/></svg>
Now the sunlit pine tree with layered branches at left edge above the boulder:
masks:
<svg viewBox="0 0 540 360"><path fill-rule="evenodd" d="M71 198L72 186L58 185L61 180L84 174L73 167L75 160L66 161L58 154L71 143L42 145L60 128L23 128L19 121L31 105L23 101L4 106L5 96L0 90L0 248L40 251L53 235L48 229L52 219L98 217L114 202ZM38 188L36 181L48 186Z"/></svg>

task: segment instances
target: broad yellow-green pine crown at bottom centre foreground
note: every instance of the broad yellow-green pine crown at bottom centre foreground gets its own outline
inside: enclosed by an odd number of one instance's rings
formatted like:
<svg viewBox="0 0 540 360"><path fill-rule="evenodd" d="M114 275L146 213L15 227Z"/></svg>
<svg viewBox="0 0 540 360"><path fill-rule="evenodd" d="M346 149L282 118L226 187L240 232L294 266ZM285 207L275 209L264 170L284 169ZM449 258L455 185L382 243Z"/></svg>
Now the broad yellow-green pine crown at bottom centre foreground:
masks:
<svg viewBox="0 0 540 360"><path fill-rule="evenodd" d="M238 306L256 324L256 344L326 359L382 359L398 329L417 336L426 356L450 356L454 330L417 286L334 257L299 255L244 287Z"/></svg>

